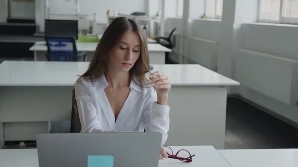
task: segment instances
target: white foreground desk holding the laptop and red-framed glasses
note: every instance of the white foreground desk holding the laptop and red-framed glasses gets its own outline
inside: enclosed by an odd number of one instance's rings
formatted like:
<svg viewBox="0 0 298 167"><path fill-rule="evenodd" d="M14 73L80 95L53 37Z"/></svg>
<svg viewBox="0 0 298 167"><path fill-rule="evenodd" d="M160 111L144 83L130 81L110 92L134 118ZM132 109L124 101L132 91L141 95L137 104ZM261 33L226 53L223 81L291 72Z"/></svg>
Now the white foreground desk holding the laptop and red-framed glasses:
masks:
<svg viewBox="0 0 298 167"><path fill-rule="evenodd" d="M185 163L177 159L168 158L160 160L158 165L159 167L231 167L213 146L173 146L172 149L173 151L187 149L191 154L195 154L193 161ZM37 149L1 149L0 165L5 167L38 167Z"/></svg>

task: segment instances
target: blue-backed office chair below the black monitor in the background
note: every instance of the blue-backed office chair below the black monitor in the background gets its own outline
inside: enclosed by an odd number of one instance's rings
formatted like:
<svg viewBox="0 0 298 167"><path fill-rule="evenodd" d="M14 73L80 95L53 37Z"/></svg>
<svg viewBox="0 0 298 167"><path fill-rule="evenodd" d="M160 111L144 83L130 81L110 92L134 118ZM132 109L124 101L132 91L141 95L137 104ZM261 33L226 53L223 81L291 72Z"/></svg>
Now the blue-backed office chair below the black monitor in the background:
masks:
<svg viewBox="0 0 298 167"><path fill-rule="evenodd" d="M78 61L83 57L86 60L86 53L78 54L74 38L70 37L45 37L48 61Z"/></svg>

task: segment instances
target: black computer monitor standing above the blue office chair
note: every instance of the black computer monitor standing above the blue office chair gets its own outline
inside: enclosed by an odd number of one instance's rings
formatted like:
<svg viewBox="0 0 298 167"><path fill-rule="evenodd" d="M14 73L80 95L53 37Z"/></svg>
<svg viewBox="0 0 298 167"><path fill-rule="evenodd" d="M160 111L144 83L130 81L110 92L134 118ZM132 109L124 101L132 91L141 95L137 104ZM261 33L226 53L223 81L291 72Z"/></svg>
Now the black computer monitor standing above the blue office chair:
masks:
<svg viewBox="0 0 298 167"><path fill-rule="evenodd" d="M46 37L75 37L78 39L77 20L48 20L44 22Z"/></svg>

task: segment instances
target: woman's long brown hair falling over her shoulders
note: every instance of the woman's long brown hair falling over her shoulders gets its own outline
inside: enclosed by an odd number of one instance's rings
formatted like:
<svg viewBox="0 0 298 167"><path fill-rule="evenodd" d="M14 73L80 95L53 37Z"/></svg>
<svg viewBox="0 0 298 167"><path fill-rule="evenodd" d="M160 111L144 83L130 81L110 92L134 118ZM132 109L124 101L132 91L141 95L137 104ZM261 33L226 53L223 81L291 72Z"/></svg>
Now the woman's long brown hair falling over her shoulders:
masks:
<svg viewBox="0 0 298 167"><path fill-rule="evenodd" d="M130 80L139 86L147 85L145 73L150 72L147 39L142 28L135 21L126 17L115 18L109 25L96 47L87 71L80 78L83 77L89 81L94 81L102 77L108 69L110 51L127 31L137 33L141 40L140 56L129 70Z"/></svg>

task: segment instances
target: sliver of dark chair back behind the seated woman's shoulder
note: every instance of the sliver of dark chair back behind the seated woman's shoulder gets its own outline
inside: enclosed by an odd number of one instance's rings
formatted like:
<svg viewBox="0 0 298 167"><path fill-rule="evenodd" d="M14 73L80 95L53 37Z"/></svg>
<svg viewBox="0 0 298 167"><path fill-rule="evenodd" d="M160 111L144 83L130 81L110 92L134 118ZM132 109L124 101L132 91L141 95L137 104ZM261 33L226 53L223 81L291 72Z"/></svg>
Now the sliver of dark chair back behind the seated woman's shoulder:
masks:
<svg viewBox="0 0 298 167"><path fill-rule="evenodd" d="M72 90L72 107L71 107L71 121L70 121L70 133L80 133L81 132L81 122L78 113L78 105L76 101L75 90Z"/></svg>

